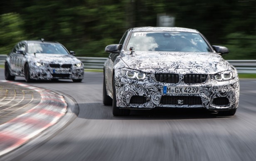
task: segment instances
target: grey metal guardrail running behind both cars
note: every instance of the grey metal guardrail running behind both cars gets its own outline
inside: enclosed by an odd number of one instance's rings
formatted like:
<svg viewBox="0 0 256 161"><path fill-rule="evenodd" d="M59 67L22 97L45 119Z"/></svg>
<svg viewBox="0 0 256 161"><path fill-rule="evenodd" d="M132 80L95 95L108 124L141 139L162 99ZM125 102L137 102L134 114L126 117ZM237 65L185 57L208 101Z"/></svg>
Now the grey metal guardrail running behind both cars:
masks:
<svg viewBox="0 0 256 161"><path fill-rule="evenodd" d="M76 57L84 63L84 68L103 69L107 58ZM6 55L0 55L0 65L4 65ZM256 60L228 60L236 67L238 73L256 73Z"/></svg>

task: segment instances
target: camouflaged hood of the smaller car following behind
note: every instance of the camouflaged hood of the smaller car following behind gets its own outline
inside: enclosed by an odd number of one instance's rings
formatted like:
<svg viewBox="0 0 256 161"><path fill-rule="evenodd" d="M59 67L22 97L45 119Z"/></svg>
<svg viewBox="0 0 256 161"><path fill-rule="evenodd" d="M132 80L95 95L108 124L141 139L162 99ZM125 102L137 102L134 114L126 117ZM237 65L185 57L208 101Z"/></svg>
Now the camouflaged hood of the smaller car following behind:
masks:
<svg viewBox="0 0 256 161"><path fill-rule="evenodd" d="M32 56L34 59L43 63L79 63L81 62L73 55L62 55L62 54L36 54Z"/></svg>

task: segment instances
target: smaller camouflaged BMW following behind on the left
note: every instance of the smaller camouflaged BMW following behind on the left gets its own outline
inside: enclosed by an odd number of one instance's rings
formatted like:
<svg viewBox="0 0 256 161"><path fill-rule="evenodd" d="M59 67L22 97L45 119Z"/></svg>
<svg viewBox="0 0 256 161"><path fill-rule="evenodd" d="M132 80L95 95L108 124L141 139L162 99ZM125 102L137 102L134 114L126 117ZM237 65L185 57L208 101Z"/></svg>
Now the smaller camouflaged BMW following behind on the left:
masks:
<svg viewBox="0 0 256 161"><path fill-rule="evenodd" d="M58 79L81 82L84 64L74 54L58 42L21 41L7 56L5 79L15 80L15 76L23 76L26 82Z"/></svg>

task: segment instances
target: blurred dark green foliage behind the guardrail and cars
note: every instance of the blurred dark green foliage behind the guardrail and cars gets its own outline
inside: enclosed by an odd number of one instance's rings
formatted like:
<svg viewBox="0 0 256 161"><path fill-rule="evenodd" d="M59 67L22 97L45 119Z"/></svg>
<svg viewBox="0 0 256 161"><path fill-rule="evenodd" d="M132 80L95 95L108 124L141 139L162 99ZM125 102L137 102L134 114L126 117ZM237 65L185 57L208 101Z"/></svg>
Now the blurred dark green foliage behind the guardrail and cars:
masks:
<svg viewBox="0 0 256 161"><path fill-rule="evenodd" d="M77 56L107 57L105 46L130 27L156 26L162 13L228 47L225 59L256 59L256 0L1 0L0 54L44 38Z"/></svg>

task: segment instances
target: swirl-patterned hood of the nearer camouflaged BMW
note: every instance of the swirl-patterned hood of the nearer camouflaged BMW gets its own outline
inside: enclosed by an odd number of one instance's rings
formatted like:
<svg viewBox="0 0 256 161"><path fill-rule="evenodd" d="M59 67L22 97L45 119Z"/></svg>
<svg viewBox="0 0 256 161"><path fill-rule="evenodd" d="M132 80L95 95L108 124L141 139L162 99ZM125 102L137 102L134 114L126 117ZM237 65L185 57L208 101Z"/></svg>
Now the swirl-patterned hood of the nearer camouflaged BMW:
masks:
<svg viewBox="0 0 256 161"><path fill-rule="evenodd" d="M121 59L128 68L145 72L150 72L148 69L154 71L187 69L184 71L208 74L234 68L217 53L136 51L133 54L122 53Z"/></svg>

